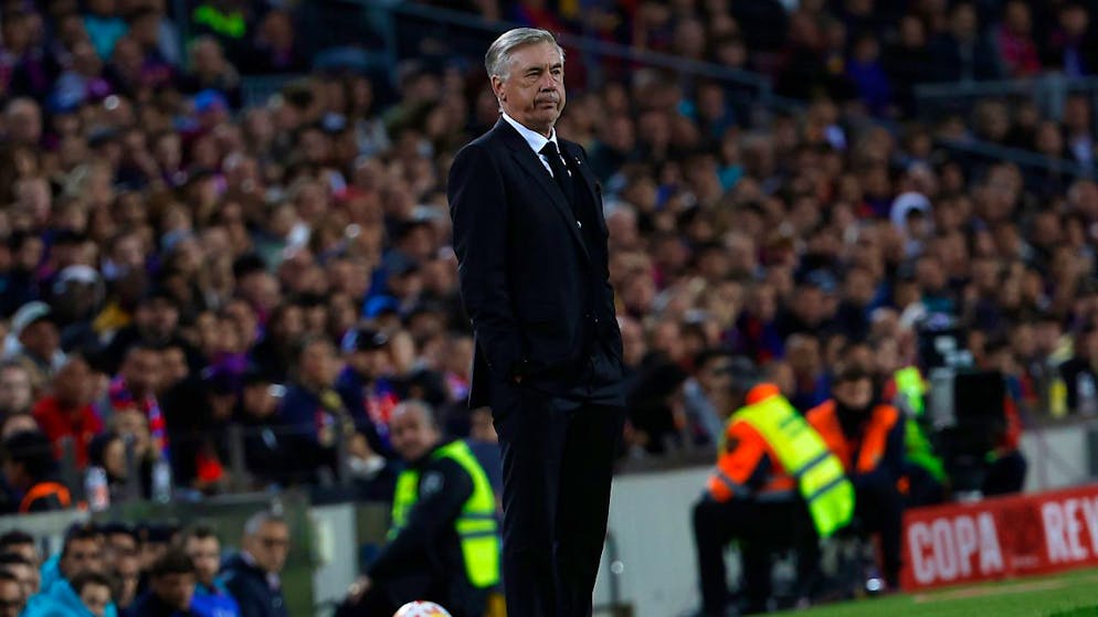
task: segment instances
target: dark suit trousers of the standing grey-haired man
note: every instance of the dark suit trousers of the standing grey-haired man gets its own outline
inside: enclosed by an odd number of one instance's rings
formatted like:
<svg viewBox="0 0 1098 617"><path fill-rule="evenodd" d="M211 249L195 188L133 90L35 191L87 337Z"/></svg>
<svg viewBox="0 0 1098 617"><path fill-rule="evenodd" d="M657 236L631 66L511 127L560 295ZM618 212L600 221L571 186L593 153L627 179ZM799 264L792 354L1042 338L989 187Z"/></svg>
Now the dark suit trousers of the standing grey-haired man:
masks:
<svg viewBox="0 0 1098 617"><path fill-rule="evenodd" d="M492 409L503 457L507 614L588 617L625 411L498 380Z"/></svg>

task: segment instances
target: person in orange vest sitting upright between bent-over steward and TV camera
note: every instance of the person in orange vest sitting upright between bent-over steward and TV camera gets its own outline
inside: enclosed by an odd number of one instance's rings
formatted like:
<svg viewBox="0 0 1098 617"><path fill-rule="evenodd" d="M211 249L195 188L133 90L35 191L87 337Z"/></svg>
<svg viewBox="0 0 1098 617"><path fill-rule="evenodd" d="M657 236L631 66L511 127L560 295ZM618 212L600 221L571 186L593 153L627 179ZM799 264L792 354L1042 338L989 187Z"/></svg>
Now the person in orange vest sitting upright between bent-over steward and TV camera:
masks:
<svg viewBox="0 0 1098 617"><path fill-rule="evenodd" d="M832 398L805 414L843 464L855 491L859 530L880 534L884 577L899 584L905 427L899 411L875 400L872 374L858 364L836 368Z"/></svg>

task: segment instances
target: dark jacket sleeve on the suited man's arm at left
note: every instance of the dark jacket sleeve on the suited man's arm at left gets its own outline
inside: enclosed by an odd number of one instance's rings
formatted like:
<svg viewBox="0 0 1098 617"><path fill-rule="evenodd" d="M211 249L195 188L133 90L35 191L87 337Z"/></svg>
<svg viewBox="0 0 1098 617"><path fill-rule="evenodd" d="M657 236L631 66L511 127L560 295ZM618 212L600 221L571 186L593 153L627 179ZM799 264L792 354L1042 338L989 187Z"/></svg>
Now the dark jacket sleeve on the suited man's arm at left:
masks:
<svg viewBox="0 0 1098 617"><path fill-rule="evenodd" d="M522 359L522 342L507 285L507 194L499 168L483 146L457 152L447 195L465 311L489 369L509 377Z"/></svg>

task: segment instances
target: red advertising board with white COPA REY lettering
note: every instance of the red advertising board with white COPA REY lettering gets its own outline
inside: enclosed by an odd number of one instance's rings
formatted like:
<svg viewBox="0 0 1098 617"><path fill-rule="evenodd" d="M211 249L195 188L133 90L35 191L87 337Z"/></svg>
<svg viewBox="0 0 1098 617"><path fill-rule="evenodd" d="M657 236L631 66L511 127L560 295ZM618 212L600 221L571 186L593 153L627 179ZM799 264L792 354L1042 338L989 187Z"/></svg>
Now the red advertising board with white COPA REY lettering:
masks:
<svg viewBox="0 0 1098 617"><path fill-rule="evenodd" d="M1098 565L1098 485L904 514L904 589Z"/></svg>

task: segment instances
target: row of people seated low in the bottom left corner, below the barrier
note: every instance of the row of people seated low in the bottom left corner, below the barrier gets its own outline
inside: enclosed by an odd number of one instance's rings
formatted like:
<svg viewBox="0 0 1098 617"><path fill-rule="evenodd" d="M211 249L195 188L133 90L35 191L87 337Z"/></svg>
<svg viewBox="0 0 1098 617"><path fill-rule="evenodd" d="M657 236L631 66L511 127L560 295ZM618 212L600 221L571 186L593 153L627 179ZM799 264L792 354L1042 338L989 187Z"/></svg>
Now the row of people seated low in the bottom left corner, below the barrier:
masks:
<svg viewBox="0 0 1098 617"><path fill-rule="evenodd" d="M75 523L56 554L22 531L0 535L3 617L276 617L289 552L285 520L254 514L239 550L212 528ZM235 540L235 539L234 539Z"/></svg>

